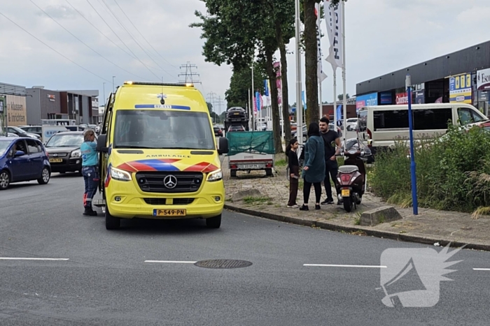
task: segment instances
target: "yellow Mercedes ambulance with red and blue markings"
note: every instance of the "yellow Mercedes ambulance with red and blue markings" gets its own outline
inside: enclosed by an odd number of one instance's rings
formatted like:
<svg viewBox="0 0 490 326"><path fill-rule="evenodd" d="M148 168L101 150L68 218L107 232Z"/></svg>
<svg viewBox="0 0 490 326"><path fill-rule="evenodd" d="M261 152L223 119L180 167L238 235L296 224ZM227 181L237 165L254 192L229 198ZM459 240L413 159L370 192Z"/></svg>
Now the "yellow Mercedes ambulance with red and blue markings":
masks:
<svg viewBox="0 0 490 326"><path fill-rule="evenodd" d="M121 218L205 218L219 228L225 204L220 154L207 103L192 84L125 82L111 94L97 140L106 229Z"/></svg>

